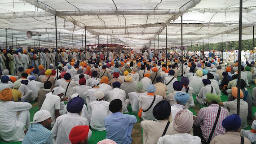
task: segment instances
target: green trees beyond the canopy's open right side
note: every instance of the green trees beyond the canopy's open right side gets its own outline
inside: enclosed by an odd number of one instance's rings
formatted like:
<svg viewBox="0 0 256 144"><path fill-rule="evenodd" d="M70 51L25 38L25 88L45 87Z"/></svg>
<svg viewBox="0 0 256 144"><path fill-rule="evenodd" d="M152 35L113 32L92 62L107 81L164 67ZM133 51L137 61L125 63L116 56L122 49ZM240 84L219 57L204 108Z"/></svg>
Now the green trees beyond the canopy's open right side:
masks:
<svg viewBox="0 0 256 144"><path fill-rule="evenodd" d="M235 42L230 42L229 44L228 43L225 43L223 42L223 50L238 50L238 41L235 41ZM203 51L203 49L205 51L209 51L209 50L217 50L217 51L221 51L222 48L221 48L221 43L216 43L216 44L200 44L200 45L191 45L188 47L187 50L189 51ZM242 50L252 50L252 39L247 39L247 40L242 40Z"/></svg>

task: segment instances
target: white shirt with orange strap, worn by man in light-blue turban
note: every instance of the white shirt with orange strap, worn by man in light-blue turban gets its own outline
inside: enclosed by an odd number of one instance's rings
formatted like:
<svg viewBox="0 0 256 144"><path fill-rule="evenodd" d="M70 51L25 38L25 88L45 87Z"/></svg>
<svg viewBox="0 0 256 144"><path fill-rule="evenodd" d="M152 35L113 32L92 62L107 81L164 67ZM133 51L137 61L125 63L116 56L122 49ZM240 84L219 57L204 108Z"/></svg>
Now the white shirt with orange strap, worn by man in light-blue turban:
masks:
<svg viewBox="0 0 256 144"><path fill-rule="evenodd" d="M138 100L139 100L140 108L142 108L143 110L147 110L150 107L151 103L153 102L154 96L141 95L138 97ZM156 120L153 115L153 109L154 109L154 106L161 100L163 100L163 96L155 95L154 104L151 106L151 108L148 111L146 112L142 111L141 118L143 120L146 120L146 119Z"/></svg>

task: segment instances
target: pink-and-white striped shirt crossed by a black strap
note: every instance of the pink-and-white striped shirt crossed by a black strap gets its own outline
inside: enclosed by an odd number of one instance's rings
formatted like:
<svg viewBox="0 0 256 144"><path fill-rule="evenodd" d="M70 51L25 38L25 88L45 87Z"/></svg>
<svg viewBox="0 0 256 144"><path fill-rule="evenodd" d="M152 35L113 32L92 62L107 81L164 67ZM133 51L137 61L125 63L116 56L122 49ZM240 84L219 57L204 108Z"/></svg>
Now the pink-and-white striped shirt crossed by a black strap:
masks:
<svg viewBox="0 0 256 144"><path fill-rule="evenodd" d="M203 134L203 137L205 140L208 140L208 138L211 134L214 122L217 117L218 109L219 109L218 104L212 104L212 105L209 105L208 107L202 108L202 109L200 109L199 113L197 114L197 117L194 120L195 126L197 126L197 127L201 126L202 134ZM222 123L223 119L225 119L227 116L229 116L229 112L226 109L221 108L220 117L217 122L215 131L212 135L212 139L216 135L224 135L225 134L225 128L222 127L221 123Z"/></svg>

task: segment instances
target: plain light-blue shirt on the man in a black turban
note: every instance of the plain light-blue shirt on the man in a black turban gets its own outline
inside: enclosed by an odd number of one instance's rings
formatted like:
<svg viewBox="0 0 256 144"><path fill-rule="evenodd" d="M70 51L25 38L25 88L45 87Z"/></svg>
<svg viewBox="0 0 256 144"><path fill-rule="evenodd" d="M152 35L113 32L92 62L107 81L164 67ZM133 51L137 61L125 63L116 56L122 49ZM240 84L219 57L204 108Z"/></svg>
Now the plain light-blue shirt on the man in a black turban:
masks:
<svg viewBox="0 0 256 144"><path fill-rule="evenodd" d="M104 118L106 139L114 140L117 144L132 144L132 128L136 122L134 115L112 113Z"/></svg>

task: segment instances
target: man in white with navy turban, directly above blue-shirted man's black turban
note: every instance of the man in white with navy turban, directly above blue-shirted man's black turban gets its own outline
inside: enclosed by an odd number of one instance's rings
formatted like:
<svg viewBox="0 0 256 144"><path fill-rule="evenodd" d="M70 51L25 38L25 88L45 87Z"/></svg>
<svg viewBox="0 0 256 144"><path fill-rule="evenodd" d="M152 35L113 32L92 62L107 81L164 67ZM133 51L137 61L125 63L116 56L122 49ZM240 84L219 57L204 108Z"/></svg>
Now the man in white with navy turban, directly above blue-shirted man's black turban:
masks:
<svg viewBox="0 0 256 144"><path fill-rule="evenodd" d="M108 102L111 102L112 100L120 99L123 104L123 113L128 113L127 106L130 103L130 100L125 100L126 94L124 90L120 89L120 86L121 86L121 83L119 82L113 83L114 89L107 92L106 100Z"/></svg>

